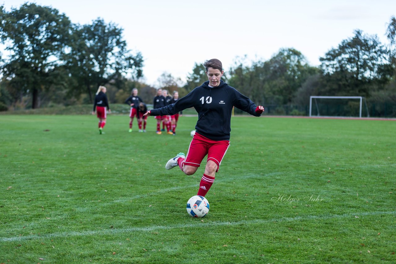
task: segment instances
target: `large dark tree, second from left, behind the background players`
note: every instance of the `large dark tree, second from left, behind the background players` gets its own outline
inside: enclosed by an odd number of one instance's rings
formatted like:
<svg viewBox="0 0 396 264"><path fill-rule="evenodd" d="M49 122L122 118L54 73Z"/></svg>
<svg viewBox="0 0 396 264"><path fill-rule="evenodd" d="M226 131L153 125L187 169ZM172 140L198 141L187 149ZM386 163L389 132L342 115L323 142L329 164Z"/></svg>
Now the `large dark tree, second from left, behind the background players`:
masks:
<svg viewBox="0 0 396 264"><path fill-rule="evenodd" d="M127 49L122 28L96 19L91 25L75 25L73 45L67 57L70 76L74 79L71 93L86 92L92 102L93 91L99 85L113 81L122 83L123 75L132 80L143 76L143 57Z"/></svg>

